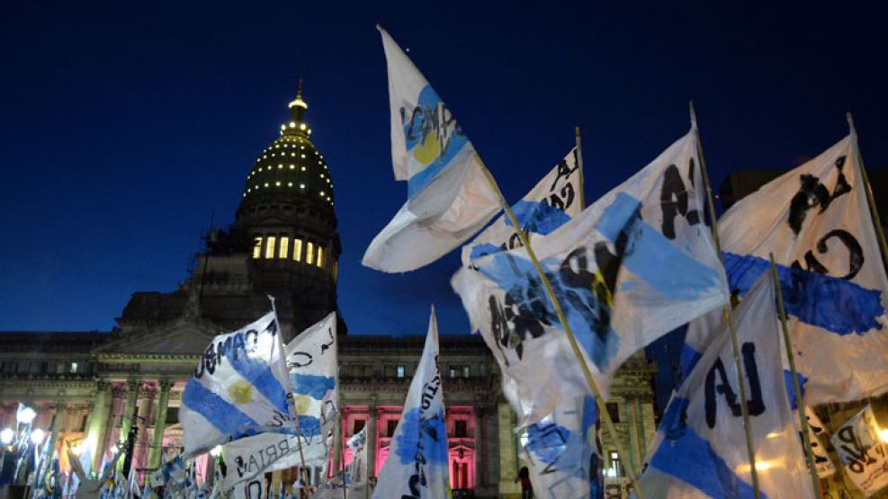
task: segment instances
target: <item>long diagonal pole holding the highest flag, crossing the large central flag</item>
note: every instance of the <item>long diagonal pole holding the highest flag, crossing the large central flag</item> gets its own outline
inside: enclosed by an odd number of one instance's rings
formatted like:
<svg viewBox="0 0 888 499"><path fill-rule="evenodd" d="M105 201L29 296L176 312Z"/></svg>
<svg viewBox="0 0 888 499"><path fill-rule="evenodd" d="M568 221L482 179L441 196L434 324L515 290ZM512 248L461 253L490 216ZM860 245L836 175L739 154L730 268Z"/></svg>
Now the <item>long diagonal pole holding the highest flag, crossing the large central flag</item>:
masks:
<svg viewBox="0 0 888 499"><path fill-rule="evenodd" d="M521 227L521 224L518 223L518 219L516 218L515 213L512 212L512 208L506 202L506 198L503 197L503 192L499 190L497 182L493 179L493 174L490 174L487 166L484 165L484 163L481 161L481 158L477 156L477 154L475 157L476 159L478 159L478 164L480 165L481 172L487 178L487 181L490 184L490 188L497 193L497 196L499 197L499 204L506 211L506 215L512 222L512 227L515 227L515 231L518 234L518 237L521 239L521 244L525 246L527 256L530 258L531 262L534 263L534 268L536 269L537 274L540 276L540 281L543 281L543 286L546 289L546 294L549 295L549 299L552 301L552 307L554 307L555 314L558 316L559 322L561 322L561 328L564 330L564 334L568 338L568 343L570 343L570 350L572 350L574 356L576 356L577 362L579 363L579 369L583 371L583 376L586 378L586 382L588 383L589 388L592 390L592 395L595 396L596 405L598 406L598 414L604 420L605 426L607 427L607 432L609 432L611 434L611 438L614 439L616 451L621 456L624 456L626 459L626 464L628 465L630 471L629 478L630 480L632 480L632 486L635 489L635 493L636 495L638 495L638 499L645 499L645 495L641 491L641 484L638 481L637 469L632 463L632 459L629 459L629 453L626 452L626 450L623 448L623 443L620 441L620 434L616 431L614 422L611 420L611 416L607 412L607 405L605 405L604 397L601 396L601 390L598 389L598 385L595 382L595 379L592 378L592 373L589 371L589 367L586 364L583 353L579 350L577 338L574 337L573 330L570 329L570 324L568 324L567 316L564 315L564 311L561 309L561 303L559 303L558 298L555 296L555 291L552 290L552 283L549 281L549 278L546 277L546 273L543 272L543 266L540 265L540 261L536 259L536 254L534 254L534 250L531 248L530 240L528 239L524 228Z"/></svg>

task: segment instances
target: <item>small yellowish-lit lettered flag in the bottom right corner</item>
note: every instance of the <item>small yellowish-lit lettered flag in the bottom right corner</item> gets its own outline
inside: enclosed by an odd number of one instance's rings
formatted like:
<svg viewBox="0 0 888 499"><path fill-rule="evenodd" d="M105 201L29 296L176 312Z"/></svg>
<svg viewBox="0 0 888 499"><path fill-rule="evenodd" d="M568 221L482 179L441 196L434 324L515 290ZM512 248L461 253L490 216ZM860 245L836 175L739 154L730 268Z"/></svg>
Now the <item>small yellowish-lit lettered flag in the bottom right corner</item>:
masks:
<svg viewBox="0 0 888 499"><path fill-rule="evenodd" d="M832 435L845 473L866 497L888 486L888 458L873 408L866 405Z"/></svg>

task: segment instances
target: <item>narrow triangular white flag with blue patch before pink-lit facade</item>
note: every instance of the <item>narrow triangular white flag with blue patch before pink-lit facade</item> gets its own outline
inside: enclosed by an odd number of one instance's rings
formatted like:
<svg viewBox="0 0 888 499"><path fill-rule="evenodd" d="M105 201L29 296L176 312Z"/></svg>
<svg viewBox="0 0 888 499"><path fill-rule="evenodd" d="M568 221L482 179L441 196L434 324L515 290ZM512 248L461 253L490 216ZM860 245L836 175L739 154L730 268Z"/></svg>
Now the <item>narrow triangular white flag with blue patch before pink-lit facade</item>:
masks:
<svg viewBox="0 0 888 499"><path fill-rule="evenodd" d="M428 320L422 359L413 375L404 411L391 437L389 457L382 465L373 499L449 497L447 425L438 366L438 324L435 307Z"/></svg>

